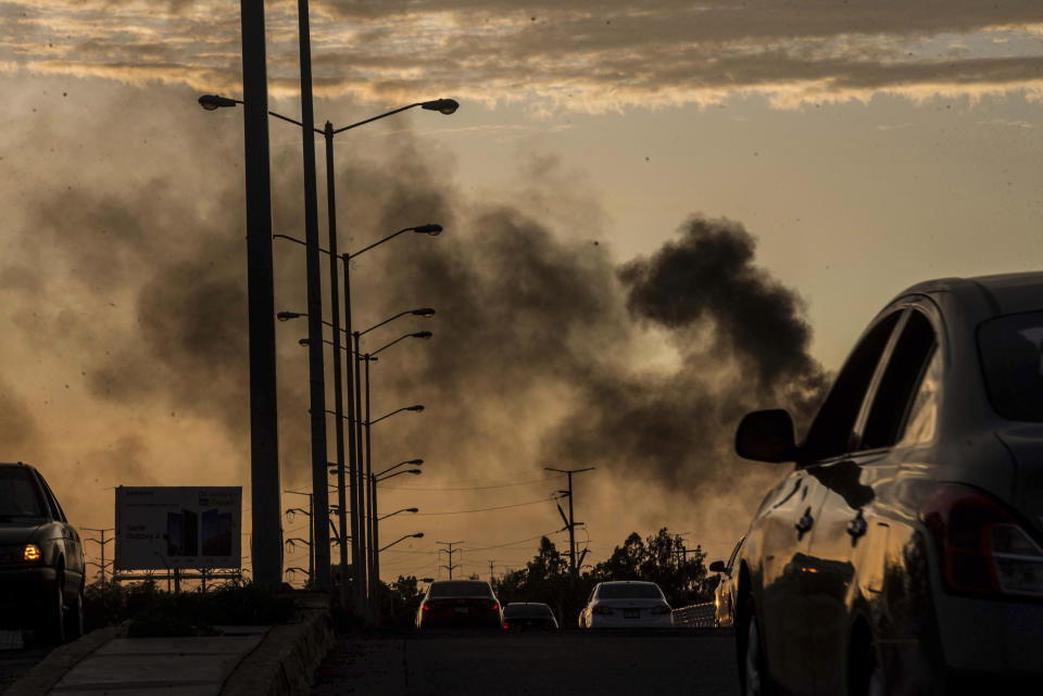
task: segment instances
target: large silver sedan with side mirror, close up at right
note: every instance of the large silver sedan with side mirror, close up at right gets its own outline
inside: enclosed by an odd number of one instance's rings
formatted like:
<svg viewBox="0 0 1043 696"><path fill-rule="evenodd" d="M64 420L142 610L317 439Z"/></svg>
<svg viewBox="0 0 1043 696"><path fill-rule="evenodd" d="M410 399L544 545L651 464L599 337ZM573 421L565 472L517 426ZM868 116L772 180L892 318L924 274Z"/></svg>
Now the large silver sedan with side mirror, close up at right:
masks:
<svg viewBox="0 0 1043 696"><path fill-rule="evenodd" d="M744 694L1028 694L1043 683L1043 273L914 286L874 318L739 554Z"/></svg>

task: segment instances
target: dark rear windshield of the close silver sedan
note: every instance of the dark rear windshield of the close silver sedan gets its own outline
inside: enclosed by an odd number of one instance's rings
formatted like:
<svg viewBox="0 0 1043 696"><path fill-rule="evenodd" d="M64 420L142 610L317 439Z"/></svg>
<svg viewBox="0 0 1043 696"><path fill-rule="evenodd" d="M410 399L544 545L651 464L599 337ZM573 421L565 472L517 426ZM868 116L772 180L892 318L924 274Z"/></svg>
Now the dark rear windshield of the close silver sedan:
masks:
<svg viewBox="0 0 1043 696"><path fill-rule="evenodd" d="M978 350L993 409L1010 420L1043 421L1043 312L1011 314L978 328Z"/></svg>

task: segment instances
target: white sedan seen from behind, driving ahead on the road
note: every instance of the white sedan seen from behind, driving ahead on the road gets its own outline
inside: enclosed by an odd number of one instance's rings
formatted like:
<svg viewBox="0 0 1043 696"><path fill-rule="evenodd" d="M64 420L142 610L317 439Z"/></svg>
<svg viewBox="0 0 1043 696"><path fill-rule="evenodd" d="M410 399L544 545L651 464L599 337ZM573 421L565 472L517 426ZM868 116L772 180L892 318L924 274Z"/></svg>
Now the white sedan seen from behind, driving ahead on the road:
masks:
<svg viewBox="0 0 1043 696"><path fill-rule="evenodd" d="M581 629L674 625L674 612L654 582L619 580L594 585L579 615Z"/></svg>

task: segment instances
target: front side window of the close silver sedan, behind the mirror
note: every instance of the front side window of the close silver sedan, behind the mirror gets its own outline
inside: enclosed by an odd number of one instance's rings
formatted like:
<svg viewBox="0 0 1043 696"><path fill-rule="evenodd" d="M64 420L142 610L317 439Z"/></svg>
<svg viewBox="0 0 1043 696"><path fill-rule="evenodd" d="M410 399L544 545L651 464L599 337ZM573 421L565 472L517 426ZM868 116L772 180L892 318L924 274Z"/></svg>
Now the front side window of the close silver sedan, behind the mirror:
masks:
<svg viewBox="0 0 1043 696"><path fill-rule="evenodd" d="M839 457L851 450L855 419L901 316L902 311L896 311L877 322L851 352L812 422L802 447L802 461Z"/></svg>

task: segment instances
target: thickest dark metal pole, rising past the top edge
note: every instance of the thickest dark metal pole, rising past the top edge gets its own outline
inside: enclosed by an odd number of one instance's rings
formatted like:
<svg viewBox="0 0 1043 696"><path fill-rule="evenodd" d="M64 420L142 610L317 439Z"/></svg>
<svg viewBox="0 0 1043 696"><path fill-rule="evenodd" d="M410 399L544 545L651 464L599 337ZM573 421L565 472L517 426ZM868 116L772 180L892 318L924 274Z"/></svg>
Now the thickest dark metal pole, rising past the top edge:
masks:
<svg viewBox="0 0 1043 696"><path fill-rule="evenodd" d="M242 124L247 179L247 314L250 354L250 494L253 578L282 581L278 406L275 389L275 280L268 170L268 84L264 3L241 0Z"/></svg>

